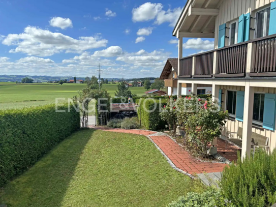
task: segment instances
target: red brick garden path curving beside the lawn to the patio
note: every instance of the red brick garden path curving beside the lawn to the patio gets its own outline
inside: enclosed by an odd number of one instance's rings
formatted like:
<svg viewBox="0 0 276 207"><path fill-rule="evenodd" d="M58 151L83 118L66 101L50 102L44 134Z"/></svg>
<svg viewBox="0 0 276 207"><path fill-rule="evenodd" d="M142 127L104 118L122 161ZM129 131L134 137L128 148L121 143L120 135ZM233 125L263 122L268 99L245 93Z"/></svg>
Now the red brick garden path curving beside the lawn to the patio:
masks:
<svg viewBox="0 0 276 207"><path fill-rule="evenodd" d="M124 130L124 129L110 129L110 128L94 128L104 131L131 133L150 136L156 134L156 132L145 131L145 130ZM175 143L168 136L150 136L150 138L160 147L160 149L167 155L167 157L173 162L173 164L179 169L188 172L189 174L194 173L209 173L209 172L221 172L227 164L220 163L209 163L200 162L189 153L182 149L177 143ZM235 160L234 154L237 149L231 144L227 144L227 151L225 150L225 141L218 139L218 153L220 153L226 159L231 158ZM225 152L225 153L224 153Z"/></svg>

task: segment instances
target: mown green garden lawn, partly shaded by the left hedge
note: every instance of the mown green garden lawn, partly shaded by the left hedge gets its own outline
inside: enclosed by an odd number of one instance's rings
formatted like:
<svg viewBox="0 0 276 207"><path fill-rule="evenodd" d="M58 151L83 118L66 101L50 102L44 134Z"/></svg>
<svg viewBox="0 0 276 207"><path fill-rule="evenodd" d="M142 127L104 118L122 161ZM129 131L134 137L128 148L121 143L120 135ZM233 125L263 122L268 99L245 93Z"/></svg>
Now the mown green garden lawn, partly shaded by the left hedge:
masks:
<svg viewBox="0 0 276 207"><path fill-rule="evenodd" d="M174 170L146 137L73 134L0 191L9 206L166 206L203 186Z"/></svg>

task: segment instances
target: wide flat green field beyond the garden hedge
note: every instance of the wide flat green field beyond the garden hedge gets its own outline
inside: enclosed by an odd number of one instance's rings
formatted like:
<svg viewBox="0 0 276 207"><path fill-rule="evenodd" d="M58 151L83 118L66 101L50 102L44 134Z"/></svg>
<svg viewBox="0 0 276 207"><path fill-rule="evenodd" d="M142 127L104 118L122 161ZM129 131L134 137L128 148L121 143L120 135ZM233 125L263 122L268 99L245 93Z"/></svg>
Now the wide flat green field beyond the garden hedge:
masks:
<svg viewBox="0 0 276 207"><path fill-rule="evenodd" d="M0 82L0 109L21 108L55 103L56 98L73 98L85 84L15 84ZM103 84L108 93L114 97L116 84ZM131 87L131 92L144 95L144 87Z"/></svg>

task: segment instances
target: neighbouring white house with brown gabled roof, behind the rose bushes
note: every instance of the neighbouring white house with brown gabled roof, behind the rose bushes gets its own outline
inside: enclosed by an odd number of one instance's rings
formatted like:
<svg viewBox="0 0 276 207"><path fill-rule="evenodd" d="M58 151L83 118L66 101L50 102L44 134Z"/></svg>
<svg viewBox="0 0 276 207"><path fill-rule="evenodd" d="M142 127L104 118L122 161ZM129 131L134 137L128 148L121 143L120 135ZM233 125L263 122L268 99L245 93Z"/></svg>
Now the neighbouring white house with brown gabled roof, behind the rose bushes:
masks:
<svg viewBox="0 0 276 207"><path fill-rule="evenodd" d="M160 75L161 80L164 80L167 88L167 95L177 95L177 74L178 74L178 58L168 58L164 69ZM181 95L189 95L192 92L192 84L181 83ZM212 87L206 84L197 86L197 94L211 94Z"/></svg>

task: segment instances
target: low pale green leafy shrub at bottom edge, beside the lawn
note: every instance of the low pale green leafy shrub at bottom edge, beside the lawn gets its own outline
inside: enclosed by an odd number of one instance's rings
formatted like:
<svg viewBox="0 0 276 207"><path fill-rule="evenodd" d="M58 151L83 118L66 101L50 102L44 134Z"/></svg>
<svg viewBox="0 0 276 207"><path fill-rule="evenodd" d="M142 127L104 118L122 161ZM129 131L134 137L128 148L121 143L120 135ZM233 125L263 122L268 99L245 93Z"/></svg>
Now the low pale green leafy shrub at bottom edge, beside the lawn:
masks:
<svg viewBox="0 0 276 207"><path fill-rule="evenodd" d="M228 202L221 194L221 191L217 188L208 188L203 193L190 192L186 196L180 197L177 201L171 202L168 207L222 207L222 206L234 206Z"/></svg>

